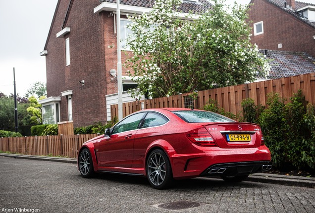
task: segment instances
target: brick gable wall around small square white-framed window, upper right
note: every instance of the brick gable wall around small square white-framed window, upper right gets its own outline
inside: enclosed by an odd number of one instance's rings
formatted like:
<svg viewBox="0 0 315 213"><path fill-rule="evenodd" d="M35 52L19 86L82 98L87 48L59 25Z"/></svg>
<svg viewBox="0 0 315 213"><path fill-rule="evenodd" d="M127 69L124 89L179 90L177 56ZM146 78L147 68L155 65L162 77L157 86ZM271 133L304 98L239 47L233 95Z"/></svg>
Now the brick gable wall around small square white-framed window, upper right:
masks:
<svg viewBox="0 0 315 213"><path fill-rule="evenodd" d="M252 0L250 24L263 21L262 35L251 37L260 49L307 52L315 57L315 28L286 13L266 0ZM278 44L282 48L278 49Z"/></svg>

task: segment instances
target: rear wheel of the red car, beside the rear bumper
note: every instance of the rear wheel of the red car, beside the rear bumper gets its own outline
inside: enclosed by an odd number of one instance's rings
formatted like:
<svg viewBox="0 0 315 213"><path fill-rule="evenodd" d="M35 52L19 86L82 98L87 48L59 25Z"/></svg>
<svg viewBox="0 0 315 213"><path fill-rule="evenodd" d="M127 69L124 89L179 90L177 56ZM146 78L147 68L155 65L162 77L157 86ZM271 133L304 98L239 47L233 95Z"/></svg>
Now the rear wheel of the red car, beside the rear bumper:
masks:
<svg viewBox="0 0 315 213"><path fill-rule="evenodd" d="M146 164L147 178L156 189L170 187L173 174L167 155L164 151L156 149L151 152Z"/></svg>

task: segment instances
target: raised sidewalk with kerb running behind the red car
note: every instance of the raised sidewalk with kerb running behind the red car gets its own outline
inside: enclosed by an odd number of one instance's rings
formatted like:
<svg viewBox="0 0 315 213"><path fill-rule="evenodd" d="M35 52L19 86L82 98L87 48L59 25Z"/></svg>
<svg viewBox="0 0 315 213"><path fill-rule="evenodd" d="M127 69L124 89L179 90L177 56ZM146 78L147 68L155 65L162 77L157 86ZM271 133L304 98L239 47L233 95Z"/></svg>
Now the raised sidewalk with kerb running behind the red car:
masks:
<svg viewBox="0 0 315 213"><path fill-rule="evenodd" d="M0 153L0 157L11 157L11 158L17 158L17 159L42 160L42 161L77 164L77 159L75 158L47 157L47 156L5 154L5 153ZM246 181L315 188L315 178L307 178L307 177L299 177L299 176L285 176L285 175L274 175L274 174L267 174L267 173L255 173L255 174L250 175L246 179Z"/></svg>

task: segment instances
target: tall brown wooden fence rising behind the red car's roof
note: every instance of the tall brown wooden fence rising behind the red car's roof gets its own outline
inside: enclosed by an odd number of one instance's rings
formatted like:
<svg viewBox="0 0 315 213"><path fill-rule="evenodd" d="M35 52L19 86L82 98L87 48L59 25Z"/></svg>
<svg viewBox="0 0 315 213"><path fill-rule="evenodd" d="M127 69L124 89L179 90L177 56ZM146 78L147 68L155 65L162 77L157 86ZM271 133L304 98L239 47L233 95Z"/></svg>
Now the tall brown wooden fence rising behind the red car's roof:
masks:
<svg viewBox="0 0 315 213"><path fill-rule="evenodd" d="M315 105L315 72L272 79L249 84L241 84L223 88L199 91L196 100L190 100L189 95L179 94L170 97L156 98L150 100L123 103L123 116L127 116L140 109L159 107L190 107L189 101L193 102L195 108L202 109L210 99L216 100L225 111L234 114L242 110L241 103L244 99L252 98L256 105L266 106L267 94L279 93L280 97L287 100L301 89L307 101ZM111 105L111 117L118 117L118 105Z"/></svg>

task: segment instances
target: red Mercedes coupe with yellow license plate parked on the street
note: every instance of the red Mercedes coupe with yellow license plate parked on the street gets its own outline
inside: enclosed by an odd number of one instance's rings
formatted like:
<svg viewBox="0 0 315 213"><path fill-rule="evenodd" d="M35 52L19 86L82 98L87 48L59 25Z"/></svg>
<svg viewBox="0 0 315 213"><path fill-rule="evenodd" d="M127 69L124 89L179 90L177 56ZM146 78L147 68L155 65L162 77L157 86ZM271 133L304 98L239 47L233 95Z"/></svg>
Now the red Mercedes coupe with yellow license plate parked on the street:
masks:
<svg viewBox="0 0 315 213"><path fill-rule="evenodd" d="M135 112L85 142L78 169L84 178L95 172L145 176L162 189L181 178L242 181L270 170L270 159L257 124L210 111L156 108Z"/></svg>

